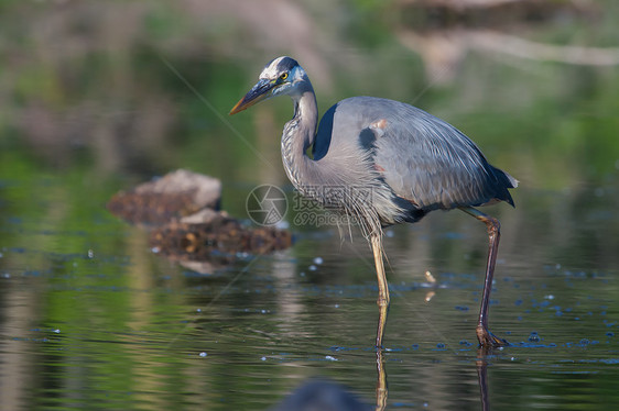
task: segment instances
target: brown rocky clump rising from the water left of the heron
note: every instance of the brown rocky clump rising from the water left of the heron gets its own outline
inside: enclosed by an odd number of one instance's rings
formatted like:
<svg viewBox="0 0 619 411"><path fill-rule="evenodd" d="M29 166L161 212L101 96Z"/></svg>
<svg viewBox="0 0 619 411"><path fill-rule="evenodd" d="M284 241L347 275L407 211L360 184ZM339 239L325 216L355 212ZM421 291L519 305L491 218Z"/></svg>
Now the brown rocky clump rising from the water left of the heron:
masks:
<svg viewBox="0 0 619 411"><path fill-rule="evenodd" d="M219 211L220 196L218 179L177 170L115 195L107 208L150 230L153 249L181 264L209 262L216 255L221 265L239 253L264 254L292 244L286 231L248 227Z"/></svg>

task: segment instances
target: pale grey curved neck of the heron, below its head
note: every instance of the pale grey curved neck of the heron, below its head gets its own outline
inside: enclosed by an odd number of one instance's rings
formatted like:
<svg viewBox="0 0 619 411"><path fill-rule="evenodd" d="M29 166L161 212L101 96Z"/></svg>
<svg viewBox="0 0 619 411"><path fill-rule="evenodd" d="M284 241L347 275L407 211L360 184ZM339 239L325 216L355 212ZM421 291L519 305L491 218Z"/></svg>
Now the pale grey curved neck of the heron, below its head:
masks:
<svg viewBox="0 0 619 411"><path fill-rule="evenodd" d="M316 162L305 154L314 144L318 123L316 96L311 85L294 103L294 118L285 124L282 134L282 160L293 186L304 192L305 187L319 181L321 174Z"/></svg>

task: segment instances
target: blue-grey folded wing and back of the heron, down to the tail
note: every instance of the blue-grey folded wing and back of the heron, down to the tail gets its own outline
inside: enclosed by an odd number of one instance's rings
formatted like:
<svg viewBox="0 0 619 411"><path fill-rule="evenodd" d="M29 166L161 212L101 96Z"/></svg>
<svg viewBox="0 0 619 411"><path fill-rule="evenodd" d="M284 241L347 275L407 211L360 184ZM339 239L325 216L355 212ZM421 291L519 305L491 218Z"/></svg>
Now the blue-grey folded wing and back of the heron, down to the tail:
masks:
<svg viewBox="0 0 619 411"><path fill-rule="evenodd" d="M374 168L394 195L415 208L453 209L496 200L513 206L508 188L518 181L488 164L475 143L449 123L372 97L346 99L332 110L330 145L357 138L361 149L372 151Z"/></svg>

